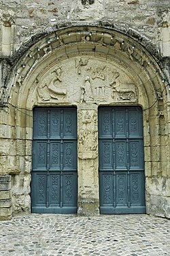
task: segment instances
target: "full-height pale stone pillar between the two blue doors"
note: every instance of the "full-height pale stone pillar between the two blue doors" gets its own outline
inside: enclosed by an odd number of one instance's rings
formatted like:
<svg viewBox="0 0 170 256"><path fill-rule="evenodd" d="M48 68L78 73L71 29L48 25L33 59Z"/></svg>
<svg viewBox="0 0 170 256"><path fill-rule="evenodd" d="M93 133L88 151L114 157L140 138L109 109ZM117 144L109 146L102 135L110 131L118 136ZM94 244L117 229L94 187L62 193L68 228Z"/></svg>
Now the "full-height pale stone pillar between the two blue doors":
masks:
<svg viewBox="0 0 170 256"><path fill-rule="evenodd" d="M78 215L99 215L97 106L78 106Z"/></svg>

